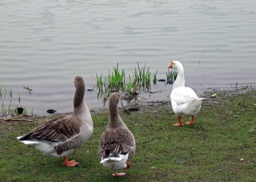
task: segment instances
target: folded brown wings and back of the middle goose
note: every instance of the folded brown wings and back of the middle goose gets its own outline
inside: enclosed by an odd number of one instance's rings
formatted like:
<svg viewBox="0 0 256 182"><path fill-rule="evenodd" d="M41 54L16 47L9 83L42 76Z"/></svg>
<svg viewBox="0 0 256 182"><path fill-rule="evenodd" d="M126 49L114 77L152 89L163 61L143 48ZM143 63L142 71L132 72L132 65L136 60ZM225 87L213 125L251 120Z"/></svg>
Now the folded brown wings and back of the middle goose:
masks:
<svg viewBox="0 0 256 182"><path fill-rule="evenodd" d="M130 160L135 154L135 139L128 129L106 130L100 138L99 156L105 159L109 154L126 155Z"/></svg>

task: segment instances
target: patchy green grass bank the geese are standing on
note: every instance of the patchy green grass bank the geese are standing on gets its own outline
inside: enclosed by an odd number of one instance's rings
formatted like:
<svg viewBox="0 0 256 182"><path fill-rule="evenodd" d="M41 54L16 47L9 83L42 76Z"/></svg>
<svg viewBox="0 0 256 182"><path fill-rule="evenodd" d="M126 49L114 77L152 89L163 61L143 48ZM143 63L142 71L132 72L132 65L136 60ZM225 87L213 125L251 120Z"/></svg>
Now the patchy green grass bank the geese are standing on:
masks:
<svg viewBox="0 0 256 182"><path fill-rule="evenodd" d="M141 106L129 115L120 110L137 148L131 168L122 171L127 175L119 178L99 164L99 138L107 126L108 113L92 113L92 137L68 156L80 162L75 168L17 141L16 137L44 121L0 125L0 181L255 182L256 91L222 97L217 93L215 98L212 94L204 97L207 101L195 124L184 127L172 125L177 117L170 114L170 102ZM182 121L189 121L189 117L182 117ZM244 160L239 161L241 158Z"/></svg>

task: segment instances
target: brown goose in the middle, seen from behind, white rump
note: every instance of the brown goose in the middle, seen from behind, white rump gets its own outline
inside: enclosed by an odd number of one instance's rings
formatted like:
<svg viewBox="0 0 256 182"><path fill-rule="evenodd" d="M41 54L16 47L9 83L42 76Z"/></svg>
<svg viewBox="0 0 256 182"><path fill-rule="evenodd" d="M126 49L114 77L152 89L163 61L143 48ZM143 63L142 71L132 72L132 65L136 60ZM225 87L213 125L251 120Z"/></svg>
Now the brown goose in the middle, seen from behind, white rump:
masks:
<svg viewBox="0 0 256 182"><path fill-rule="evenodd" d="M135 139L118 114L118 102L122 98L117 92L109 97L109 119L107 129L100 137L100 164L114 171L113 176L124 176L117 173L130 168L130 160L135 154Z"/></svg>

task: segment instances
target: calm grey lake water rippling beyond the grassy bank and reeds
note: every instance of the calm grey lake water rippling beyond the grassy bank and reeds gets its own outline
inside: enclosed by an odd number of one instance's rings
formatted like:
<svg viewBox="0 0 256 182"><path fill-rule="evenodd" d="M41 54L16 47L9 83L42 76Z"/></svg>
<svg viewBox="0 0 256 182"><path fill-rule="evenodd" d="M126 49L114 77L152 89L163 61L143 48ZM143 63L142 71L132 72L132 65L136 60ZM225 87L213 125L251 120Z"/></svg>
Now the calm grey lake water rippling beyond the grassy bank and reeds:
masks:
<svg viewBox="0 0 256 182"><path fill-rule="evenodd" d="M93 89L117 63L127 79L137 62L166 79L178 60L197 94L256 83L255 0L6 0L0 20L0 82L13 92L1 104L29 114L73 111L74 77ZM157 82L151 91L166 91L142 97L168 100L171 89ZM97 93L86 92L89 108L102 106Z"/></svg>

